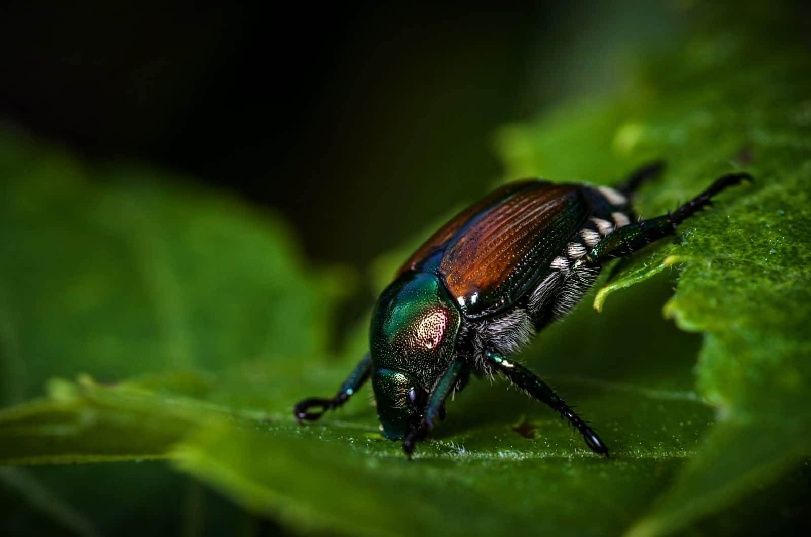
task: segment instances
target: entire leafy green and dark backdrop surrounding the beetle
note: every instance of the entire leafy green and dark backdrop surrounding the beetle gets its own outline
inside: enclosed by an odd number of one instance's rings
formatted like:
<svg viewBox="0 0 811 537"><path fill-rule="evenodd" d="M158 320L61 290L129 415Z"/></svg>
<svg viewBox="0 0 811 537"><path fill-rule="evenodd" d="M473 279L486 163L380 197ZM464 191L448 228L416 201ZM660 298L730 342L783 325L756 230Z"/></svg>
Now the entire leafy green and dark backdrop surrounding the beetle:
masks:
<svg viewBox="0 0 811 537"><path fill-rule="evenodd" d="M4 534L807 526L806 6L6 11ZM611 184L652 157L672 172L642 193L646 214L731 168L762 180L679 247L617 267L612 290L647 281L603 315L590 295L526 352L616 459L487 382L412 463L375 432L367 390L293 423L290 405L332 393L363 353L393 267L454 210L504 180ZM662 316L673 259L680 329ZM723 266L740 259L754 268ZM58 464L28 466L43 462Z"/></svg>

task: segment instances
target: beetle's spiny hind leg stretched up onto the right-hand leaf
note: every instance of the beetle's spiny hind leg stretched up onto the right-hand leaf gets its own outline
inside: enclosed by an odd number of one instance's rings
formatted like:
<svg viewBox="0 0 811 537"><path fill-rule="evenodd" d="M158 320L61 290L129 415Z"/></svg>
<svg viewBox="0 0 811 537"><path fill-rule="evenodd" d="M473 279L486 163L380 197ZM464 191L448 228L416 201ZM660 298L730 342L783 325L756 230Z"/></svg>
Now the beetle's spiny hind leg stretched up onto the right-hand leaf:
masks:
<svg viewBox="0 0 811 537"><path fill-rule="evenodd" d="M603 240L595 244L594 248L586 256L577 260L573 264L572 270L574 271L584 264L599 265L616 257L628 256L659 238L672 235L676 231L676 226L681 222L707 205L712 204L711 199L714 195L744 180L752 181L752 176L746 173L722 175L715 179L714 183L706 191L681 205L673 213L638 221L636 224L622 226L612 231Z"/></svg>

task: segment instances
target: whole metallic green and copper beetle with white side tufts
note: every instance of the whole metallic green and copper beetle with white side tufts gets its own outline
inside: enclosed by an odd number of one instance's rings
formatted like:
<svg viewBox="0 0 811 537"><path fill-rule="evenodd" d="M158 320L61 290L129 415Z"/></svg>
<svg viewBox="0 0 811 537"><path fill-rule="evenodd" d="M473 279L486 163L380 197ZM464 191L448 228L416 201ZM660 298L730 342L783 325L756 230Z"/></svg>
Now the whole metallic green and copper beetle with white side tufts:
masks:
<svg viewBox="0 0 811 537"><path fill-rule="evenodd" d="M466 386L471 372L500 374L568 419L594 453L608 456L594 429L510 356L571 311L607 260L674 234L714 195L752 180L725 174L673 213L638 219L631 196L663 167L662 161L644 165L616 188L508 183L458 213L380 294L369 353L335 397L295 405L298 422L343 405L371 378L382 432L402 440L410 456L436 419L444 419L445 400Z"/></svg>

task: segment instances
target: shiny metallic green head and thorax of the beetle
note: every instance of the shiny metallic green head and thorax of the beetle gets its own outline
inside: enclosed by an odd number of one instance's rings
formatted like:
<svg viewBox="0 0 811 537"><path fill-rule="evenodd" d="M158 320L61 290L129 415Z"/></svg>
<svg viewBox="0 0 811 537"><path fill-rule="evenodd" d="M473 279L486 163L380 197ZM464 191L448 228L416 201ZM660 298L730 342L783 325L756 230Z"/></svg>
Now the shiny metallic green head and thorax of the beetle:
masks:
<svg viewBox="0 0 811 537"><path fill-rule="evenodd" d="M402 438L422 417L427 393L453 360L459 324L434 274L405 273L380 294L371 317L371 387L388 438Z"/></svg>

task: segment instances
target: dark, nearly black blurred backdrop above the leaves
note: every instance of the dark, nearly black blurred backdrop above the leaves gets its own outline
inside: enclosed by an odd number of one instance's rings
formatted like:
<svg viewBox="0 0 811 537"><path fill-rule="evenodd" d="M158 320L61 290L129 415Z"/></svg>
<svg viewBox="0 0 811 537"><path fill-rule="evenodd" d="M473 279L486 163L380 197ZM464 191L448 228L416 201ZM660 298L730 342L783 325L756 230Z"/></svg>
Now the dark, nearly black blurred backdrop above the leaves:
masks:
<svg viewBox="0 0 811 537"><path fill-rule="evenodd" d="M675 25L628 1L4 11L0 118L277 208L312 259L357 266L486 191L497 127L610 90Z"/></svg>

